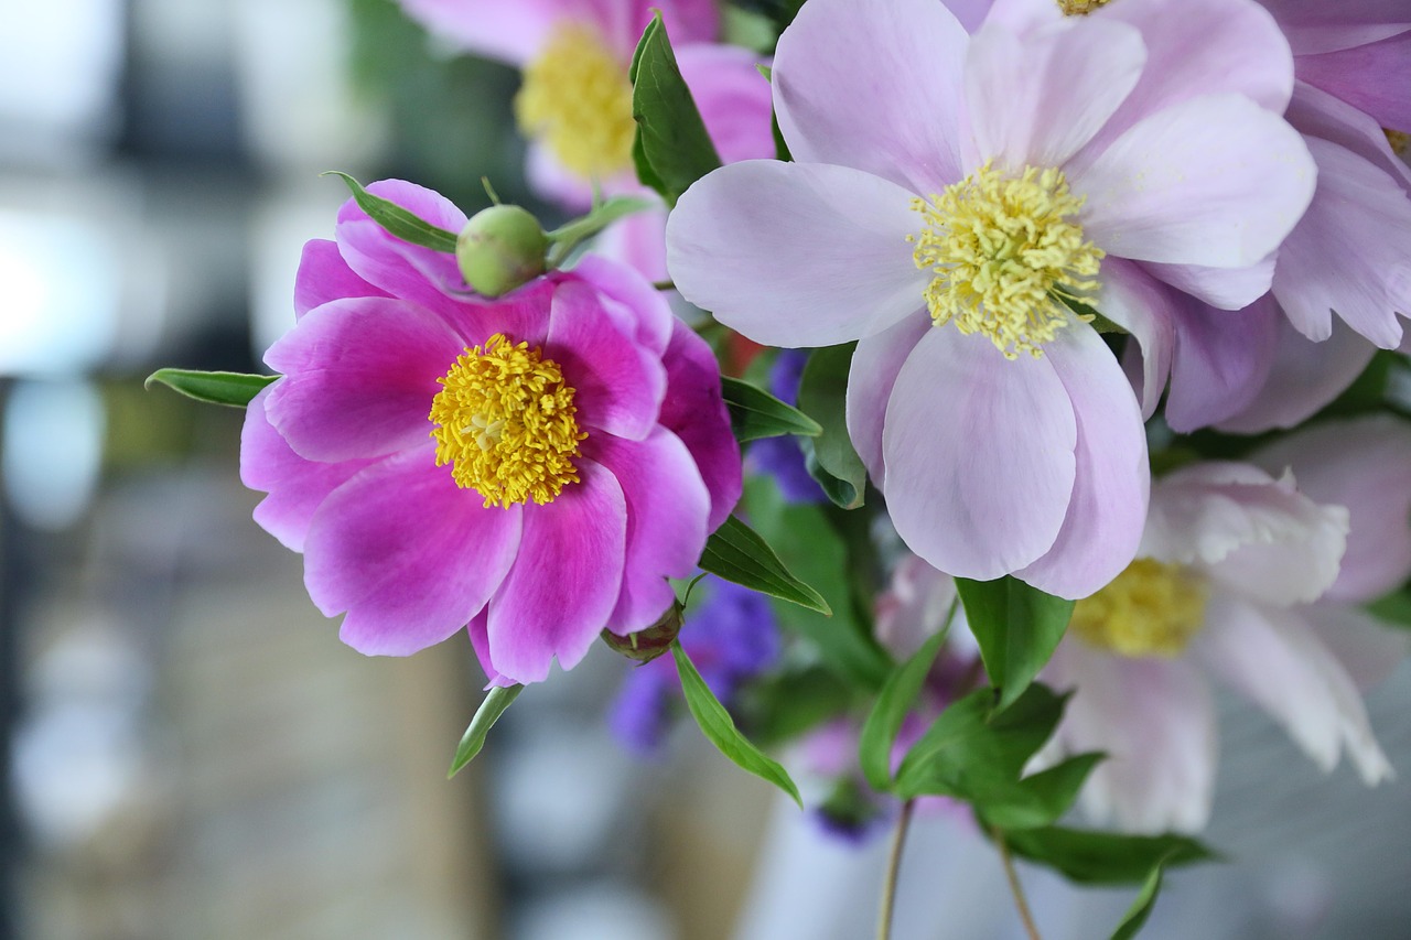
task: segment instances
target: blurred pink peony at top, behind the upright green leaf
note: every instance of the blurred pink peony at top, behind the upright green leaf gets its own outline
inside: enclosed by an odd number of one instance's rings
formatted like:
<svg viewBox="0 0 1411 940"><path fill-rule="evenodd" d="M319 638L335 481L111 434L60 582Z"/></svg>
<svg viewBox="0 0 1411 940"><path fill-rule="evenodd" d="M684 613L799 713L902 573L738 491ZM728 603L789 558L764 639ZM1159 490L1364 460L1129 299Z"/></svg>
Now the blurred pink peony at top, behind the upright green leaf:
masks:
<svg viewBox="0 0 1411 940"><path fill-rule="evenodd" d="M515 119L529 140L535 189L570 210L607 195L646 195L632 164L628 68L659 8L682 78L725 162L772 157L769 83L758 54L715 42L714 0L402 0L413 18L457 48L519 68ZM666 277L666 207L608 229L598 251L652 279Z"/></svg>

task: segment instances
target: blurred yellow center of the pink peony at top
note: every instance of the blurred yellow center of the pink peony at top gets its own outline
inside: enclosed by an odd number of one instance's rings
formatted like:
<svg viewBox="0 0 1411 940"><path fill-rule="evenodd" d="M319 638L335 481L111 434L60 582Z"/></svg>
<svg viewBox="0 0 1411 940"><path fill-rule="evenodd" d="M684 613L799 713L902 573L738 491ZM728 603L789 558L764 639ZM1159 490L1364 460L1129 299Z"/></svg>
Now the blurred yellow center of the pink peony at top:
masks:
<svg viewBox="0 0 1411 940"><path fill-rule="evenodd" d="M632 85L626 66L591 27L566 24L523 69L519 128L584 179L632 165Z"/></svg>

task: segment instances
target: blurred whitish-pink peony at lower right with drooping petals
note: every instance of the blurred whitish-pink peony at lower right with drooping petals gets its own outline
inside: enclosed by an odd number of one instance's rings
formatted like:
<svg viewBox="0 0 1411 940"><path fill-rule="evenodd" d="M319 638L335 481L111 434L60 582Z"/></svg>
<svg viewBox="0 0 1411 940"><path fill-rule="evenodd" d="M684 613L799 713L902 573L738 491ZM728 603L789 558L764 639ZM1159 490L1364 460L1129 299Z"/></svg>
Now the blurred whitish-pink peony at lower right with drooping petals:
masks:
<svg viewBox="0 0 1411 940"><path fill-rule="evenodd" d="M1108 752L1081 803L1122 828L1205 824L1216 728L1204 672L1325 771L1345 752L1366 783L1391 776L1360 689L1405 655L1405 637L1356 604L1411 574L1411 432L1322 425L1254 460L1264 469L1205 463L1158 480L1137 560L1078 601L1041 673L1075 689L1050 757Z"/></svg>

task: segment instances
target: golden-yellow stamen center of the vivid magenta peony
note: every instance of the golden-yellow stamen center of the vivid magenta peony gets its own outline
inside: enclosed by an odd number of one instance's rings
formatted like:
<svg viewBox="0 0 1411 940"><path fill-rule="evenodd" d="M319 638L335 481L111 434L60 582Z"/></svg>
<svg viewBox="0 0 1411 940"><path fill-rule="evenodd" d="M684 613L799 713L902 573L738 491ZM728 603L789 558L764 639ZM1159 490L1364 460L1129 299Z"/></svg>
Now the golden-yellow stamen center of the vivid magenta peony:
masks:
<svg viewBox="0 0 1411 940"><path fill-rule="evenodd" d="M529 500L543 505L579 483L573 457L588 435L579 430L563 370L538 349L495 333L436 381L436 466L452 464L456 486L480 493L487 508Z"/></svg>

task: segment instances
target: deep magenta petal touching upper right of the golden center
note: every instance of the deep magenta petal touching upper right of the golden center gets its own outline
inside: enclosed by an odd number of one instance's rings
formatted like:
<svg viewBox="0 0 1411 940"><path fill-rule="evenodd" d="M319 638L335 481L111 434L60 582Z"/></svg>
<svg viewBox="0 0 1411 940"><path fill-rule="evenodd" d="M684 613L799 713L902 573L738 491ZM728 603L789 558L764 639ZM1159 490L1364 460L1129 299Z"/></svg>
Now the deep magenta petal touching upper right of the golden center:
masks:
<svg viewBox="0 0 1411 940"><path fill-rule="evenodd" d="M586 281L564 281L553 294L545 357L574 388L579 423L641 440L656 426L666 395L660 358L602 315L602 296Z"/></svg>

